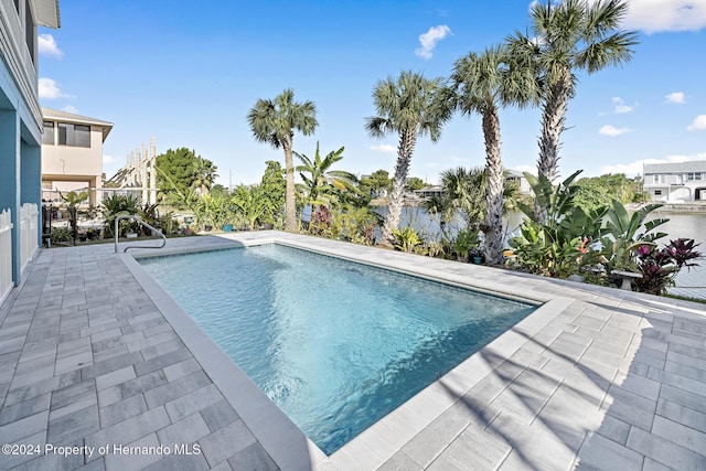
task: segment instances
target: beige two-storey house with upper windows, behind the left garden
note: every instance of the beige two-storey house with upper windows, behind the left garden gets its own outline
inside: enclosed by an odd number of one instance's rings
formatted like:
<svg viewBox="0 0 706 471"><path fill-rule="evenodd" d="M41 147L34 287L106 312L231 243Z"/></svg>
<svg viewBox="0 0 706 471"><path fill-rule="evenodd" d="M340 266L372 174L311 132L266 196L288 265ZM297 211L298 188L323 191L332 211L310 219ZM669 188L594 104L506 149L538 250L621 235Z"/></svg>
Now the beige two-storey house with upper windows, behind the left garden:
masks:
<svg viewBox="0 0 706 471"><path fill-rule="evenodd" d="M43 197L56 200L56 191L88 190L88 203L97 206L103 188L103 143L113 124L51 108L42 108L42 115Z"/></svg>

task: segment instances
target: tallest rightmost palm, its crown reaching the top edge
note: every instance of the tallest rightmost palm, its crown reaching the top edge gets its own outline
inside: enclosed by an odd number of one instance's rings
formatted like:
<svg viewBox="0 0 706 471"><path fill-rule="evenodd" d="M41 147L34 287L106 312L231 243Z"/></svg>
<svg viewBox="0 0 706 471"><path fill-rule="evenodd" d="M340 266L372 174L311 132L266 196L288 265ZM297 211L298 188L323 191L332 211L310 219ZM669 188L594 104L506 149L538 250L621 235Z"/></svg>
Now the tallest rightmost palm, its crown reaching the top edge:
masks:
<svg viewBox="0 0 706 471"><path fill-rule="evenodd" d="M619 28L627 12L628 3L622 0L535 2L532 36L515 32L507 38L514 58L537 71L542 88L537 171L549 181L558 176L560 137L568 101L576 94L574 71L591 74L632 58L630 47L638 43L637 33Z"/></svg>

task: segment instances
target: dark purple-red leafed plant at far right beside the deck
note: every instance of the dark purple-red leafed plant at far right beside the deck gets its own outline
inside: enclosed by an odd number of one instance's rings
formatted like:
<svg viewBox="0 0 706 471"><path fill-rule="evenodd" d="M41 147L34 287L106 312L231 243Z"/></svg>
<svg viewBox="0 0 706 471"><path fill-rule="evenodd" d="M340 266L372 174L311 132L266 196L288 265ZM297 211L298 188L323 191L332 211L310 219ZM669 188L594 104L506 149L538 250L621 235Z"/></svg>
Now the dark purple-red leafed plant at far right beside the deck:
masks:
<svg viewBox="0 0 706 471"><path fill-rule="evenodd" d="M657 249L654 244L644 244L638 247L638 271L642 278L633 282L638 291L652 295L664 295L666 289L675 286L675 277L684 267L691 269L697 267L694 260L702 258L702 254L695 248L691 238L670 240L670 244Z"/></svg>

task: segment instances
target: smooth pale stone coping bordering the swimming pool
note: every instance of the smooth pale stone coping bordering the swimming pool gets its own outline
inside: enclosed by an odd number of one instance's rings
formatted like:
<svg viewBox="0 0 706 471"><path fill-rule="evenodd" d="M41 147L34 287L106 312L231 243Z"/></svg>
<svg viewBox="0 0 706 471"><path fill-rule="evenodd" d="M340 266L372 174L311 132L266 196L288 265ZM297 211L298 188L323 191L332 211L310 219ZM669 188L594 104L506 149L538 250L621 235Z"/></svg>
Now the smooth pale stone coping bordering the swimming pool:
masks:
<svg viewBox="0 0 706 471"><path fill-rule="evenodd" d="M152 302L182 339L204 372L234 406L244 424L281 469L323 469L364 465L376 468L393 457L415 435L424 430L475 386L526 341L559 315L574 302L571 298L553 296L498 282L469 279L467 274L454 272L462 264L426 257L415 266L409 257L379 248L357 246L287 233L255 233L249 236L224 235L233 242L218 247L176 247L147 253L120 254L128 270ZM194 239L197 244L199 239ZM542 303L534 312L504 332L483 349L461 362L437 382L413 396L395 410L331 456L323 453L279 407L228 357L223 350L184 312L176 302L139 265L137 258L161 257L196 251L211 251L265 244L281 244L304 250L404 271L458 287L492 292L511 299ZM347 249L347 250L346 250ZM385 255L385 257L381 257ZM418 260L414 260L418 261ZM485 267L482 267L485 268ZM489 268L485 268L489 269ZM462 270L463 271L463 270ZM488 363L486 358L498 358ZM306 453L302 453L306 450Z"/></svg>

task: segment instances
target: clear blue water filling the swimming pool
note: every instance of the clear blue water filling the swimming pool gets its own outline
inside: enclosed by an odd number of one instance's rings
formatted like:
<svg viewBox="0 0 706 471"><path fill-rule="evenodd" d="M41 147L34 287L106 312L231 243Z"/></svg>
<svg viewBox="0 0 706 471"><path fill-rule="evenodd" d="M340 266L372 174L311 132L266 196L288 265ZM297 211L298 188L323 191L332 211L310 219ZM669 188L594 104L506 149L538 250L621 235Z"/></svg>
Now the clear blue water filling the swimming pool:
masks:
<svg viewBox="0 0 706 471"><path fill-rule="evenodd" d="M140 264L327 454L535 309L278 245Z"/></svg>

